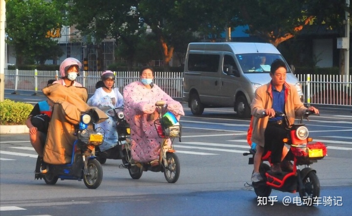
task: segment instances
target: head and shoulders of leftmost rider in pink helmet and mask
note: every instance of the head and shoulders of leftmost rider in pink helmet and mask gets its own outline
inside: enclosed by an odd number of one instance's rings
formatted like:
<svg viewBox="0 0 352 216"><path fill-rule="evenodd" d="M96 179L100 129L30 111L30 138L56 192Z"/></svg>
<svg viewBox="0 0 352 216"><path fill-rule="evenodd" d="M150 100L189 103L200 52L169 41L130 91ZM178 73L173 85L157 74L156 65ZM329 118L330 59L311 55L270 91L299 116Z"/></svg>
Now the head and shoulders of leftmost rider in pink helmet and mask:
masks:
<svg viewBox="0 0 352 216"><path fill-rule="evenodd" d="M76 82L77 76L79 76L82 63L75 58L67 58L60 64L61 79L56 80L53 83L62 84L64 86L76 86L82 87L82 85Z"/></svg>

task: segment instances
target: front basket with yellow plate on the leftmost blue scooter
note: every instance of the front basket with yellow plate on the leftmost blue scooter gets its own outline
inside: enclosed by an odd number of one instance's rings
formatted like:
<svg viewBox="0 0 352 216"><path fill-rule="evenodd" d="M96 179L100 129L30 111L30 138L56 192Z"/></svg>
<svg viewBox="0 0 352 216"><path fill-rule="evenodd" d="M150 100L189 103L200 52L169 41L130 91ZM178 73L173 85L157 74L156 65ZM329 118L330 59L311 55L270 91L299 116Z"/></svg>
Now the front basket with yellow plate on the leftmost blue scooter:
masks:
<svg viewBox="0 0 352 216"><path fill-rule="evenodd" d="M86 145L99 146L104 141L105 131L103 128L98 127L97 129L84 129L79 131L77 134L78 140L85 143Z"/></svg>

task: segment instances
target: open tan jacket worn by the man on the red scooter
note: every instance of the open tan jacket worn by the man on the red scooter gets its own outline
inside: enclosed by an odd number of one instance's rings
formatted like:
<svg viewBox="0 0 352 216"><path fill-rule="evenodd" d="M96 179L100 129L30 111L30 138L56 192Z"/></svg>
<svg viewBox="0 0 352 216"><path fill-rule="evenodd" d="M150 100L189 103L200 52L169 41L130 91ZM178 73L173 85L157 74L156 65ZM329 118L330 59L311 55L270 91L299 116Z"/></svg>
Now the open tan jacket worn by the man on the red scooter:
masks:
<svg viewBox="0 0 352 216"><path fill-rule="evenodd" d="M294 123L295 117L300 118L306 112L307 108L301 102L294 85L285 82L285 113L289 121L288 125ZM255 91L251 103L251 114L253 116L252 142L264 147L264 131L269 119L264 116L265 109L272 107L272 86L267 83Z"/></svg>

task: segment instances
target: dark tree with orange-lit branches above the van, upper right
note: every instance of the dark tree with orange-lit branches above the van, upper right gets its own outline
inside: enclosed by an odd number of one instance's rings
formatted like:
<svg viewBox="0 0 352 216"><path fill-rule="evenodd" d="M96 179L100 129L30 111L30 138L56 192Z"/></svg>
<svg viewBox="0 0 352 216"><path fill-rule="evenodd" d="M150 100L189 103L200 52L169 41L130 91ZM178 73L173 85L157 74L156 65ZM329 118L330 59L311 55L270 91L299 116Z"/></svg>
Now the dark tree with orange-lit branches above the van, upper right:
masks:
<svg viewBox="0 0 352 216"><path fill-rule="evenodd" d="M245 0L238 6L248 33L278 46L311 24L340 28L346 4L345 0Z"/></svg>

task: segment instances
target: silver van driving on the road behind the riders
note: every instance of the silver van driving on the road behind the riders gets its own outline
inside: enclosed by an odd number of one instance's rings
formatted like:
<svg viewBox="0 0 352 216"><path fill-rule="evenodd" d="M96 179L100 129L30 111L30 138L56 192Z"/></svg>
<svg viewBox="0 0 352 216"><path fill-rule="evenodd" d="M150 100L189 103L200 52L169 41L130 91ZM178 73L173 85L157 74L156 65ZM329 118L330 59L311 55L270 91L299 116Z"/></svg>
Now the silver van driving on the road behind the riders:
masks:
<svg viewBox="0 0 352 216"><path fill-rule="evenodd" d="M234 107L238 117L249 118L254 92L271 80L270 65L275 59L286 62L271 43L190 43L182 99L193 115L208 107ZM288 65L286 81L296 86L303 100L301 85Z"/></svg>

